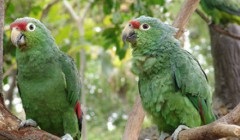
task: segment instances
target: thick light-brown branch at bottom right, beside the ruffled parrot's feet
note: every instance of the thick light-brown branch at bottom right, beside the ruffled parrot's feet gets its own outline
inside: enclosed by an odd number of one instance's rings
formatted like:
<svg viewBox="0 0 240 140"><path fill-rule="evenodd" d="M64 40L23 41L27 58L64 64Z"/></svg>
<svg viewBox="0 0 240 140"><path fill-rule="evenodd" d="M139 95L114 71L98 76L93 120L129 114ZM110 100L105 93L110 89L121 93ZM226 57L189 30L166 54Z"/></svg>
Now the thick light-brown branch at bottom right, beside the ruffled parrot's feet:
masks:
<svg viewBox="0 0 240 140"><path fill-rule="evenodd" d="M223 137L240 138L240 104L230 113L208 125L191 128L179 133L179 140L211 140ZM168 138L167 140L171 140Z"/></svg>

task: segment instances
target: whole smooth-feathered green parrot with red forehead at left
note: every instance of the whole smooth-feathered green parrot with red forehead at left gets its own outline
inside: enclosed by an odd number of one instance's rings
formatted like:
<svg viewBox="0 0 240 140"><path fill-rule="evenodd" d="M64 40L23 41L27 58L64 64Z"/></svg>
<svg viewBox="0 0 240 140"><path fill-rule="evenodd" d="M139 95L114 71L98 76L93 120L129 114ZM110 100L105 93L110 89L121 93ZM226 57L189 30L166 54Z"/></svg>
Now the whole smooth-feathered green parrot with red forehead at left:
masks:
<svg viewBox="0 0 240 140"><path fill-rule="evenodd" d="M39 20L18 18L10 29L17 48L18 90L27 119L21 127L38 125L54 135L64 135L64 140L79 140L81 85L73 60L59 50Z"/></svg>

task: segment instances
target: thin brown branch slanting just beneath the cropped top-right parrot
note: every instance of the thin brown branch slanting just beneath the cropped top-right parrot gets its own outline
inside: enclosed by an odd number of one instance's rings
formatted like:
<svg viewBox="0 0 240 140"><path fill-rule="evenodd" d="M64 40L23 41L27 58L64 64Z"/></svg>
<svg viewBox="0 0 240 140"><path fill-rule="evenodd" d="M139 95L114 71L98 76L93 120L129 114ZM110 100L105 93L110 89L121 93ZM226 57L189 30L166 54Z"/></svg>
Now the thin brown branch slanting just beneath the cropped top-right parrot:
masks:
<svg viewBox="0 0 240 140"><path fill-rule="evenodd" d="M212 23L212 21L200 10L197 9L196 13L209 25L209 27L213 28L215 31L217 31L221 34L224 34L226 36L229 36L231 38L240 40L240 36L230 33L228 30L225 30L225 29L221 28L220 26Z"/></svg>

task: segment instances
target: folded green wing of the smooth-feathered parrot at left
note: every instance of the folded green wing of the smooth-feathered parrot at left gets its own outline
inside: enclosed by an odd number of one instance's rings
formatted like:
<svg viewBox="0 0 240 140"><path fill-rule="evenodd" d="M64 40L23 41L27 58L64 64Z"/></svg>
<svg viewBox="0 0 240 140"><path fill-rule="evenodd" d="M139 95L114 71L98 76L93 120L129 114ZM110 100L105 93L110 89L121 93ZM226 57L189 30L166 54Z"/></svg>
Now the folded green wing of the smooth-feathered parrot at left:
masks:
<svg viewBox="0 0 240 140"><path fill-rule="evenodd" d="M61 54L59 59L66 84L67 99L71 105L75 106L80 99L80 77L74 61L67 55Z"/></svg>

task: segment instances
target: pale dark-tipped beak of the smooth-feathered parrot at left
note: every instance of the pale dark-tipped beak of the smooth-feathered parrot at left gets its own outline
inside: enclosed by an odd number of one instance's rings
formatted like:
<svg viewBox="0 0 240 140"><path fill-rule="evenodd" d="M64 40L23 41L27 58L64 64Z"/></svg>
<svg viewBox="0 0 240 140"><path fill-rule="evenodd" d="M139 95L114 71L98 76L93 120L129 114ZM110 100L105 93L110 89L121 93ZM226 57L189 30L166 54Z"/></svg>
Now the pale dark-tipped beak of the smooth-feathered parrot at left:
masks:
<svg viewBox="0 0 240 140"><path fill-rule="evenodd" d="M22 48L26 45L24 35L17 28L12 29L11 41L16 47L19 48Z"/></svg>

